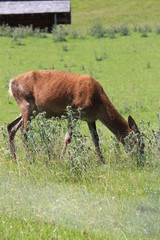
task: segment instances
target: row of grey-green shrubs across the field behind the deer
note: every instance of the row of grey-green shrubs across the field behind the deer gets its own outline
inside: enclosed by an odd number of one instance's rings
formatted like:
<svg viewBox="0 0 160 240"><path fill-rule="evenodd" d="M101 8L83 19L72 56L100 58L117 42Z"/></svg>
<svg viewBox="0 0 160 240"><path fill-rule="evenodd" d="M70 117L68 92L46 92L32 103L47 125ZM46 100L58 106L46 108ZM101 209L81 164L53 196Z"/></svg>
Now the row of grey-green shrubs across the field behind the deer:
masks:
<svg viewBox="0 0 160 240"><path fill-rule="evenodd" d="M91 24L87 29L87 34L95 36L96 38L109 37L115 38L117 34L121 36L128 36L131 32L139 32L141 36L148 36L148 33L154 31L159 34L159 25L157 24L155 28L151 27L149 24L145 25L134 25L133 28L127 26L126 24L120 25L111 25L108 29L98 21ZM66 37L69 35L71 39L82 38L80 30L75 28L69 28L64 26L58 26L57 28L52 29L53 40L55 42L65 42ZM13 43L21 45L22 39L29 36L35 36L40 38L46 38L48 36L48 29L33 29L32 25L30 26L19 26L19 27L10 27L9 25L0 26L0 36L12 37Z"/></svg>

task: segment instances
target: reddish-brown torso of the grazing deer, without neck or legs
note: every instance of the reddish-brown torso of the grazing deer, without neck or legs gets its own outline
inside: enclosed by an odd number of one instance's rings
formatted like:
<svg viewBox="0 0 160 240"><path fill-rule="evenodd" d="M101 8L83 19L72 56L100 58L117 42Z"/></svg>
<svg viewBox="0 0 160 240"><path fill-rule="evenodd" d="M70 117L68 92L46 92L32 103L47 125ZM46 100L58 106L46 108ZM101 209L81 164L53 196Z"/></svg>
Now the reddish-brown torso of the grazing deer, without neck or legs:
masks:
<svg viewBox="0 0 160 240"><path fill-rule="evenodd" d="M91 76L58 70L22 73L14 78L12 92L15 98L34 101L39 111L51 115L63 114L66 106L93 111L104 93Z"/></svg>

